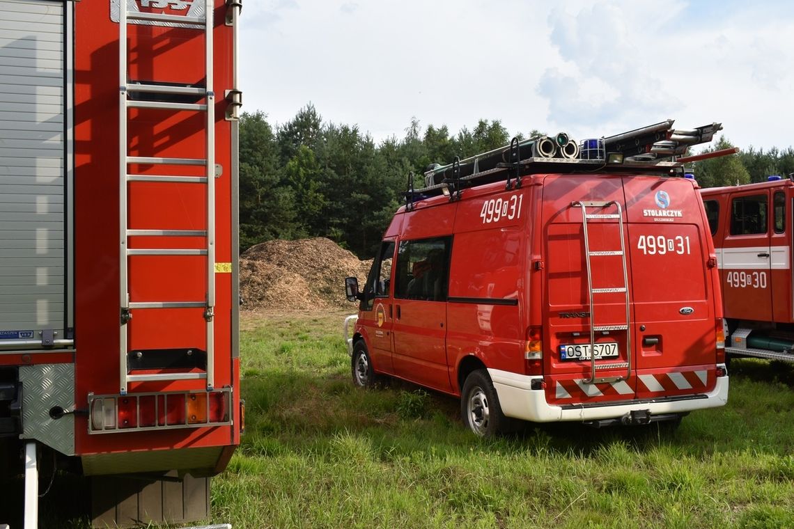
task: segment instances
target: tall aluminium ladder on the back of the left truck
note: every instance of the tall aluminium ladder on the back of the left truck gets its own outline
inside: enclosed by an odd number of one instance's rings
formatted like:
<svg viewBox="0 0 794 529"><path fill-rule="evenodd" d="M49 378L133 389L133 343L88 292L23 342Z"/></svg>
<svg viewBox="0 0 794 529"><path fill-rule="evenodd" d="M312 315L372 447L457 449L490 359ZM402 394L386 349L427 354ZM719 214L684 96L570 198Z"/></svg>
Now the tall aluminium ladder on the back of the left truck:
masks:
<svg viewBox="0 0 794 529"><path fill-rule="evenodd" d="M119 336L120 356L119 375L121 395L127 393L130 382L137 381L175 381L190 379L206 379L208 390L214 387L214 305L215 305L215 94L213 91L213 27L214 27L214 2L213 0L195 0L195 3L204 4L202 16L181 16L167 13L144 13L130 11L129 3L120 2L119 9L119 230L121 247L119 251L119 275L121 288L119 291L121 301L121 332ZM137 4L133 4L136 5ZM127 6L127 9L125 9ZM127 29L129 24L153 25L179 25L204 33L205 50L205 85L189 86L175 85L173 82L147 82L137 84L129 82L128 76L128 49ZM146 94L145 101L133 100L130 94ZM160 96L163 101L156 101ZM168 101L174 96L192 96L203 103L185 103ZM152 100L153 99L153 100ZM161 109L164 111L193 111L205 113L206 121L206 157L193 158L162 158L147 156L130 156L128 151L128 125L129 109ZM200 166L204 167L204 175L200 177L176 175L132 174L128 171L130 164L156 164L164 167L175 166ZM163 171L168 172L168 171ZM171 229L129 229L129 203L127 186L129 182L182 182L199 184L206 187L206 230L171 230ZM202 249L188 248L156 248L141 249L129 248L129 240L139 236L163 237L203 237L206 245ZM206 255L206 299L204 301L129 301L129 262L128 259L138 255ZM158 373L158 374L130 374L128 366L129 357L129 321L132 319L133 310L137 309L196 309L203 308L203 317L206 320L206 370L204 373Z"/></svg>

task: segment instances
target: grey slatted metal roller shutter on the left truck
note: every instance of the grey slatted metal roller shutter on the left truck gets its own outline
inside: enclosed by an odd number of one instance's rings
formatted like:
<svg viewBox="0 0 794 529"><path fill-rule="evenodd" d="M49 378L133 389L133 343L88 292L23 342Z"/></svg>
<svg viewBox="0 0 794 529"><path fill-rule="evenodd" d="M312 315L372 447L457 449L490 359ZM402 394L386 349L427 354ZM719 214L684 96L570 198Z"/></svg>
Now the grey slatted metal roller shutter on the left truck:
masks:
<svg viewBox="0 0 794 529"><path fill-rule="evenodd" d="M66 337L66 3L0 0L0 349Z"/></svg>

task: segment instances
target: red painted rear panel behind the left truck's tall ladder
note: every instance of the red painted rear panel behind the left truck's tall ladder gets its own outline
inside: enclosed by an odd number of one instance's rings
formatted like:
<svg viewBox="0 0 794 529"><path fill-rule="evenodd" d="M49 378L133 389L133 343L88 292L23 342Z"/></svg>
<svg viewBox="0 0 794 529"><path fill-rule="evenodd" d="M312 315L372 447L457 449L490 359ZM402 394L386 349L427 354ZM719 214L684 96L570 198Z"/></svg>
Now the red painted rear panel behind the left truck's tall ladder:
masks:
<svg viewBox="0 0 794 529"><path fill-rule="evenodd" d="M75 399L119 392L118 265L118 24L108 2L75 4ZM231 125L224 120L222 97L232 88L233 29L224 24L225 2L215 2L214 91L216 178L216 262L232 263ZM204 40L196 29L129 25L129 77L158 82L198 82L204 76ZM203 113L132 109L129 155L204 158ZM139 174L164 174L162 167L131 167ZM203 167L165 174L202 175ZM183 183L129 183L130 229L206 229L206 189ZM202 247L195 238L137 237L130 247ZM131 301L203 301L206 257L133 256L129 258ZM235 389L239 408L239 364L231 358L232 277L215 274L215 387ZM206 349L202 309L135 310L131 348ZM130 393L200 389L205 381L139 382ZM239 443L237 425L186 430L87 435L84 416L75 419L78 455L168 450L175 447L229 447ZM164 469L167 470L167 469Z"/></svg>

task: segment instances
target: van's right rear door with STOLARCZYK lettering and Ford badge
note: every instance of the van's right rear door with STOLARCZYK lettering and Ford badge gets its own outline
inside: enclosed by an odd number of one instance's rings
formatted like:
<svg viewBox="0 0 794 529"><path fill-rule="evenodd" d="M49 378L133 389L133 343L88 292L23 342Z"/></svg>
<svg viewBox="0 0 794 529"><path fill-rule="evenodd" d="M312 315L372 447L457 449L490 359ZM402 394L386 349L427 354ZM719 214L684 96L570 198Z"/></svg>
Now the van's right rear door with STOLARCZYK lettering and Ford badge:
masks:
<svg viewBox="0 0 794 529"><path fill-rule="evenodd" d="M637 397L715 385L715 267L700 197L684 178L623 178L628 207Z"/></svg>

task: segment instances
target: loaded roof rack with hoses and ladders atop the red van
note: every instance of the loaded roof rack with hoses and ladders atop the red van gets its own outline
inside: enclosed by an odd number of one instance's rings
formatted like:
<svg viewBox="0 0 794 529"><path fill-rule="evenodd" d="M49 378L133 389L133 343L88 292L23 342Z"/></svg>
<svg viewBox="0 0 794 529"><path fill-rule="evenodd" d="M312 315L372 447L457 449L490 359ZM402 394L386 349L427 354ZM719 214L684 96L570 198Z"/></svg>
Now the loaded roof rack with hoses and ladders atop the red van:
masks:
<svg viewBox="0 0 794 529"><path fill-rule="evenodd" d="M602 136L576 143L565 132L557 136L535 136L526 140L513 138L505 147L460 159L453 163L434 164L425 171L424 185L415 186L409 174L405 194L406 208L414 201L440 194L450 200L461 197L464 187L480 183L506 181L507 189L521 186L523 176L535 173L638 172L666 176L683 176L683 155L693 145L711 141L723 125L712 123L690 129L673 128L674 120L635 128L614 136ZM670 159L670 160L667 160Z"/></svg>

